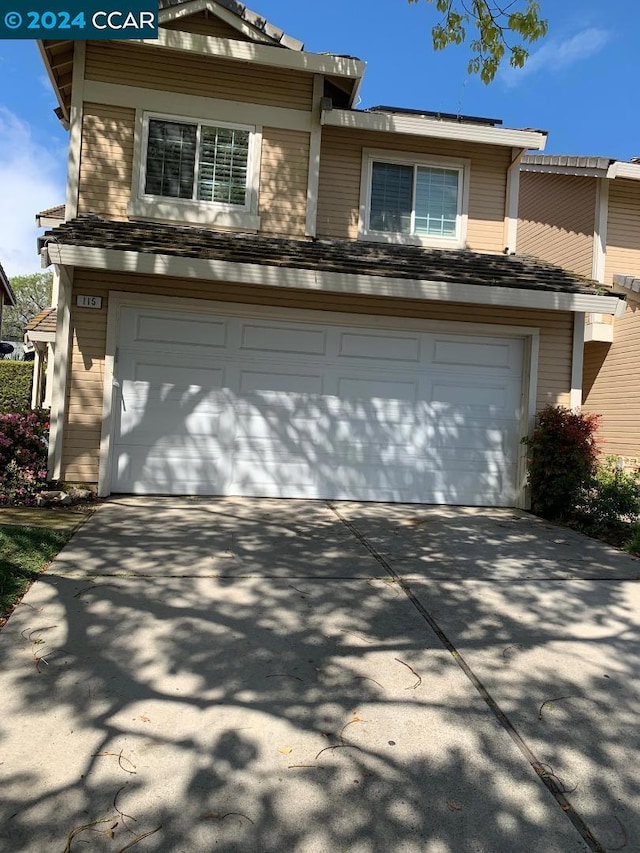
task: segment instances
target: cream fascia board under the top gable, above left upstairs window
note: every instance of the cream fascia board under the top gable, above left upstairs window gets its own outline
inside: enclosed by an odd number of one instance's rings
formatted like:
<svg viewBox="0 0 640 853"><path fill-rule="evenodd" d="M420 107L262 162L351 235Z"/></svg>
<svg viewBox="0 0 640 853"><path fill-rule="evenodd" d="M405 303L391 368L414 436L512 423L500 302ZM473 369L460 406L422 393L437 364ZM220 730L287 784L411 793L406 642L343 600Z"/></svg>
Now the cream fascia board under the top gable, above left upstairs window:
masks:
<svg viewBox="0 0 640 853"><path fill-rule="evenodd" d="M215 56L236 62L254 62L274 68L290 68L310 74L332 74L353 80L362 77L365 69L364 62L351 57L283 50L271 45L183 33L179 30L159 30L157 39L130 39L128 43Z"/></svg>

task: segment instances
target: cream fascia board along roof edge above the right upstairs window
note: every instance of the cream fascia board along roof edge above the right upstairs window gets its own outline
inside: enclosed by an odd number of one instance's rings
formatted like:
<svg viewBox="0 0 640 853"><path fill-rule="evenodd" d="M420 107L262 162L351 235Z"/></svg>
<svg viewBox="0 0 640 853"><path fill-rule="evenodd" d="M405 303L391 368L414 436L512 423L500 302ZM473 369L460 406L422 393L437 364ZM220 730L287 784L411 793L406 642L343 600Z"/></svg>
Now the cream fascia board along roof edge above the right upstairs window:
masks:
<svg viewBox="0 0 640 853"><path fill-rule="evenodd" d="M435 121L416 116L364 113L353 110L324 110L322 123L352 130L374 130L381 133L455 139L458 142L482 142L486 145L505 145L509 148L536 149L538 151L544 149L547 141L544 133L534 130L483 127L482 125L458 124L451 121Z"/></svg>

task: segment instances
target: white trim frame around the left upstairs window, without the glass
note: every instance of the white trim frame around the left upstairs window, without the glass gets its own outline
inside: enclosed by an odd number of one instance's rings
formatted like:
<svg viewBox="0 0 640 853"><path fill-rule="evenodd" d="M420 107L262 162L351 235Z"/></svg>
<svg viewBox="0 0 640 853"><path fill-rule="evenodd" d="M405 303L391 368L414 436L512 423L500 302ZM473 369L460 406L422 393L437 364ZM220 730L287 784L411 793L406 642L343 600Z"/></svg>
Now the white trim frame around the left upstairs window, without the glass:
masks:
<svg viewBox="0 0 640 853"><path fill-rule="evenodd" d="M147 175L147 150L149 120L182 122L184 124L230 127L249 132L249 155L247 158L247 195L245 204L232 205L197 199L165 198L145 193ZM136 110L136 132L133 156L133 181L131 201L127 212L133 219L159 219L163 222L186 222L195 225L216 225L222 228L260 230L258 196L260 184L260 159L262 156L262 127L217 121L210 118L180 116L175 114ZM197 169L194 184L197 181Z"/></svg>

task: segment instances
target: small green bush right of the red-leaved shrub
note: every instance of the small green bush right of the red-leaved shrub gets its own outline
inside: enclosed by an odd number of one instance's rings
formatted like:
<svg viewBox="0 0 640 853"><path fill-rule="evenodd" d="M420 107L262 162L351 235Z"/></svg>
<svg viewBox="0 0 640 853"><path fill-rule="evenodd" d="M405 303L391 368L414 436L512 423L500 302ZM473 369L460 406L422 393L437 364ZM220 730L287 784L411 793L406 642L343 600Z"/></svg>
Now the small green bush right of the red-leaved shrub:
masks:
<svg viewBox="0 0 640 853"><path fill-rule="evenodd" d="M580 514L593 532L635 521L640 516L640 483L633 474L618 467L615 456L607 457L598 469Z"/></svg>

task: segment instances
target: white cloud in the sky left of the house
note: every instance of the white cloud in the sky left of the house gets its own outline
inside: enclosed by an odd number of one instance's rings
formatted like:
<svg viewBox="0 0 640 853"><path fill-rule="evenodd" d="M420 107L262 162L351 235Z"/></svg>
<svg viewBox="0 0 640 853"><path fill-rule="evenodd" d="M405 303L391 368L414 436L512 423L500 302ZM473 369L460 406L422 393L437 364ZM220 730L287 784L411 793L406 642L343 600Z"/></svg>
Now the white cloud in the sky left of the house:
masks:
<svg viewBox="0 0 640 853"><path fill-rule="evenodd" d="M64 201L64 152L0 106L0 262L8 276L38 272L35 214Z"/></svg>

